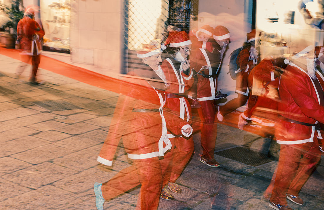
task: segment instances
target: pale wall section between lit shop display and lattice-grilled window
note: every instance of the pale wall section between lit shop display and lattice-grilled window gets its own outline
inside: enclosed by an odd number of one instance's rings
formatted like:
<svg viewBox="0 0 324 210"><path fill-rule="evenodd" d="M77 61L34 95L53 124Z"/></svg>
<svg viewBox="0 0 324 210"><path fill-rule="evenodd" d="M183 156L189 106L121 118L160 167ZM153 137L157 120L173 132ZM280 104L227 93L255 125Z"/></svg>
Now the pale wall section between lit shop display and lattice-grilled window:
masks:
<svg viewBox="0 0 324 210"><path fill-rule="evenodd" d="M72 3L73 1L71 1ZM75 0L71 11L71 61L116 77L122 58L122 0Z"/></svg>

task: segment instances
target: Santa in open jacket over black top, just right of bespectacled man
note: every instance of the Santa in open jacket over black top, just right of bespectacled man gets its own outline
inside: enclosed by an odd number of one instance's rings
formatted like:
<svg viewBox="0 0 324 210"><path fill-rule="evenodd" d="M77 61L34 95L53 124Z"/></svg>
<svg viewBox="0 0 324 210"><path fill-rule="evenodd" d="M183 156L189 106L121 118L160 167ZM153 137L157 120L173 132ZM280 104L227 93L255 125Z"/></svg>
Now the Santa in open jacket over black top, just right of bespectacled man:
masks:
<svg viewBox="0 0 324 210"><path fill-rule="evenodd" d="M201 145L203 154L200 161L210 167L218 167L214 159L214 150L217 136L215 123L214 100L227 95L217 92L217 73L219 71L224 52L229 43L230 34L224 26L214 29L214 51L209 52L203 48L196 48L191 53L191 68L197 75L197 83L193 89L199 101L198 114L201 120Z"/></svg>

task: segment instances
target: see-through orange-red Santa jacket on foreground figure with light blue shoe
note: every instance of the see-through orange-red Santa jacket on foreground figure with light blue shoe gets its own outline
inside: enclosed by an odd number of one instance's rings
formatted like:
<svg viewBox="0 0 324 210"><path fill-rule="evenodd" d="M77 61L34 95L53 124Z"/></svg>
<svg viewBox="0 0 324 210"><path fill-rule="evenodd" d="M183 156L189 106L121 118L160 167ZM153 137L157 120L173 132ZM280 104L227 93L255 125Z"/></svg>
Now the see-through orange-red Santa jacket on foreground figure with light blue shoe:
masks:
<svg viewBox="0 0 324 210"><path fill-rule="evenodd" d="M155 90L144 80L139 82L140 85L122 84L130 91L118 98L108 136L97 158L102 164L112 165L121 137L129 158L153 158L163 156L172 146L167 127L177 135L181 134L181 128L190 127L188 122L167 110L163 91Z"/></svg>

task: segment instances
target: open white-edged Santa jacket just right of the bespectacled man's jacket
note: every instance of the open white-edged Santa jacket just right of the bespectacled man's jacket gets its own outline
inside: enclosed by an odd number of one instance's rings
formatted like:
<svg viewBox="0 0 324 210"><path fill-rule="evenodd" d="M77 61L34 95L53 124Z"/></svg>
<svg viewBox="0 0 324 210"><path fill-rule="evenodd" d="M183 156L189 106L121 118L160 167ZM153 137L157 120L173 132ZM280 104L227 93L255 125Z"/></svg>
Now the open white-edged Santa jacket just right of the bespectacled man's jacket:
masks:
<svg viewBox="0 0 324 210"><path fill-rule="evenodd" d="M212 56L212 59L210 57ZM198 48L192 50L190 55L190 66L196 72L199 72L200 69L208 65L208 69L204 69L197 74L197 98L199 101L214 100L215 93L217 90L217 78L216 72L213 71L213 65L216 62L213 62L213 57L219 56L216 53L209 53L205 49ZM203 76L203 75L204 76ZM209 78L207 78L210 76ZM192 98L189 95L189 98Z"/></svg>

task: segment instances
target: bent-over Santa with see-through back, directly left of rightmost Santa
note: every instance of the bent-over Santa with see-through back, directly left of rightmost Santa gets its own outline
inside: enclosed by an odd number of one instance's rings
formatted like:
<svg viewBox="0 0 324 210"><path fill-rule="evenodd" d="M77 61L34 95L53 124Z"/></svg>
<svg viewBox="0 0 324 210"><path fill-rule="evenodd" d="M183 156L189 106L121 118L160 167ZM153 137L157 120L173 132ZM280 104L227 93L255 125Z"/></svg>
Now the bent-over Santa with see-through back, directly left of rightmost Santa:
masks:
<svg viewBox="0 0 324 210"><path fill-rule="evenodd" d="M279 77L286 68L284 57L268 56L255 66L248 77L249 100L248 108L239 116L238 128L243 130L247 124L260 127L265 136L271 136L268 157L277 159L280 149L274 137L274 123L278 116ZM250 148L252 142L244 144Z"/></svg>

